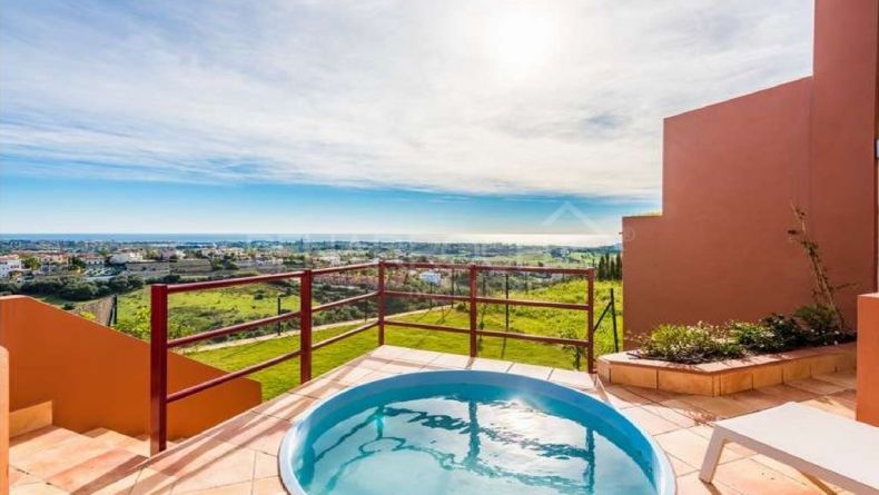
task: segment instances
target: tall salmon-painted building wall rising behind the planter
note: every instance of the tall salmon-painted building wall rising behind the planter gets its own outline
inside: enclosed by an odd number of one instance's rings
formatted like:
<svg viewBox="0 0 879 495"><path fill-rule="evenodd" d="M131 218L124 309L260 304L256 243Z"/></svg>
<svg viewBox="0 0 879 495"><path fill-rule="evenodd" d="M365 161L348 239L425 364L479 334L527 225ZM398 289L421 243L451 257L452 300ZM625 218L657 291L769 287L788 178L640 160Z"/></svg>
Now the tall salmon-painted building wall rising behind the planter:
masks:
<svg viewBox="0 0 879 495"><path fill-rule="evenodd" d="M810 303L788 239L803 208L855 325L876 288L879 2L817 0L812 77L664 122L663 208L623 219L625 346L663 323L722 323Z"/></svg>

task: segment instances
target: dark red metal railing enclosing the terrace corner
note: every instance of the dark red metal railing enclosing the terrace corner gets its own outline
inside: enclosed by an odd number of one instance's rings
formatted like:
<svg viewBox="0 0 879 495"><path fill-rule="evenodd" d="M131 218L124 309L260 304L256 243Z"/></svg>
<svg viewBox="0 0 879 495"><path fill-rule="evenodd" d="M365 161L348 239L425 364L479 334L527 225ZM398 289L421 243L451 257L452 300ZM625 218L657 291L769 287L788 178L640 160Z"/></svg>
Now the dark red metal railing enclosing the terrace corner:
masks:
<svg viewBox="0 0 879 495"><path fill-rule="evenodd" d="M312 285L315 276L328 275L340 271L363 270L363 269L377 269L377 284L376 290L363 294L346 299L335 300L318 306L312 305ZM394 268L429 268L429 269L450 269L450 270L467 270L468 274L468 295L451 295L451 294L424 294L424 293L407 293L399 290L387 290L386 278L388 269ZM497 297L480 296L478 294L478 276L480 273L545 273L545 274L562 274L562 275L576 275L586 278L586 294L585 304L572 303L553 303L530 299L506 299ZM285 313L277 316L260 318L253 321L230 325L228 327L217 328L214 330L204 331L196 335L188 335L186 337L168 340L168 296L179 293L189 293L194 290L216 289L223 287L231 287L247 284L261 284L267 281L290 280L299 279L299 310ZM151 286L151 308L150 308L150 451L158 454L165 451L168 437L168 404L176 400L184 399L199 392L208 388L216 387L224 383L240 378L261 369L275 366L277 364L299 358L299 380L305 383L312 379L312 354L314 350L328 345L335 344L339 340L350 336L378 327L378 345L385 343L385 327L397 326L407 328L418 328L425 330L448 331L455 334L467 334L470 336L470 355L476 357L478 354L478 338L480 337L503 337L511 339L529 340L543 344L562 344L575 347L584 347L586 349L586 366L590 373L594 373L594 279L595 271L593 268L546 268L546 267L516 267L516 266L491 266L491 265L455 265L455 264L433 264L433 263L392 263L378 261L361 265L347 265L340 267L319 268L319 269L305 269L299 271L289 271L284 274L260 275L255 277L230 278L226 280L200 281L192 284L155 284ZM442 301L461 301L467 303L470 314L468 328L451 327L444 325L422 324L415 321L402 321L386 318L385 303L388 297L402 298L417 298L417 299L433 299ZM312 341L312 318L317 311L323 311L336 308L347 304L354 304L375 298L377 300L377 316L374 320L368 321L359 327L353 328L343 334L322 340L317 344ZM550 337L543 335L526 335L512 331L502 330L486 330L478 328L477 320L477 305L480 304L495 304L495 305L510 305L510 306L531 306L543 308L556 309L571 309L580 310L586 314L586 338L563 338ZM168 350L171 348L195 344L197 341L246 331L253 328L279 324L282 321L299 318L299 349L294 350L264 363L259 363L237 372L228 373L217 378L192 385L188 388L177 390L168 394Z"/></svg>

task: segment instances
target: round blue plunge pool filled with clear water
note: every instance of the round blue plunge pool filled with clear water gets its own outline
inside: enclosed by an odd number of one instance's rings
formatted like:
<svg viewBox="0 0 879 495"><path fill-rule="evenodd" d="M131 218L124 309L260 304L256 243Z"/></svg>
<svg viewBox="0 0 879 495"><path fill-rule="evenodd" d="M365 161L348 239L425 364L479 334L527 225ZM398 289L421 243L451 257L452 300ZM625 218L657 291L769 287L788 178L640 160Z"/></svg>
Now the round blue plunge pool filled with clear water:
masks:
<svg viewBox="0 0 879 495"><path fill-rule="evenodd" d="M580 392L516 375L424 372L346 390L287 434L295 495L673 493L650 437Z"/></svg>

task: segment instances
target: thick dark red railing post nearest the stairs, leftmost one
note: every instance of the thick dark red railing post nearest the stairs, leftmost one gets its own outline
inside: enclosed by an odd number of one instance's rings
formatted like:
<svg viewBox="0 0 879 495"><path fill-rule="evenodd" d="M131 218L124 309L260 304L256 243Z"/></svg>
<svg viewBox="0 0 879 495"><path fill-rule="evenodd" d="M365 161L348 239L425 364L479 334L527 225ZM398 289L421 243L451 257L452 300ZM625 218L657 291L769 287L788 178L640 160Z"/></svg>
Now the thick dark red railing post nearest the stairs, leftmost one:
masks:
<svg viewBox="0 0 879 495"><path fill-rule="evenodd" d="M168 286L150 287L149 449L156 455L168 442Z"/></svg>

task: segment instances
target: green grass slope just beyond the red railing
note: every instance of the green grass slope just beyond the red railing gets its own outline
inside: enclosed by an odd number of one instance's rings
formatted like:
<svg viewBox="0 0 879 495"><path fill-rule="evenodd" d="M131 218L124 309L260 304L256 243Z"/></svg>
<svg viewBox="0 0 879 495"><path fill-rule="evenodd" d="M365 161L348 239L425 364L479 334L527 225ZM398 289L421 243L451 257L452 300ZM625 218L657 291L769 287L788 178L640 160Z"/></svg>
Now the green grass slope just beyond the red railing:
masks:
<svg viewBox="0 0 879 495"><path fill-rule="evenodd" d="M606 304L611 287L614 288L616 295L618 326L621 330L620 337L622 338L622 298L619 283L596 284L595 317L597 318L601 309L603 309ZM551 287L532 290L529 294L511 293L511 298L582 303L584 294L584 283L565 281ZM565 331L573 331L577 337L583 337L585 333L585 314L581 311L511 307L510 315L510 331L552 336L563 335ZM446 310L434 309L422 315L409 315L401 319L457 326L462 328L468 326L468 314L460 307L448 308ZM481 321L484 324L485 329L503 330L505 327L504 307L490 306L484 315L481 314ZM322 330L315 335L315 341L338 335L354 326L356 325ZM608 317L595 335L596 355L613 352L613 334L611 328L611 320L610 317ZM375 348L377 341L376 331L375 329L364 331L316 350L313 359L313 375L318 376ZM395 346L443 353L464 355L468 353L468 337L466 335L388 326L385 341L386 344ZM290 337L220 349L195 352L190 353L189 356L226 370L235 370L295 350L298 346L298 337ZM480 356L561 368L574 367L572 354L561 346L513 339L504 341L504 339L501 338L486 337L480 343ZM585 366L585 359L583 359L582 365ZM263 396L268 399L298 385L298 359L294 359L256 373L251 375L251 377L263 384Z"/></svg>

